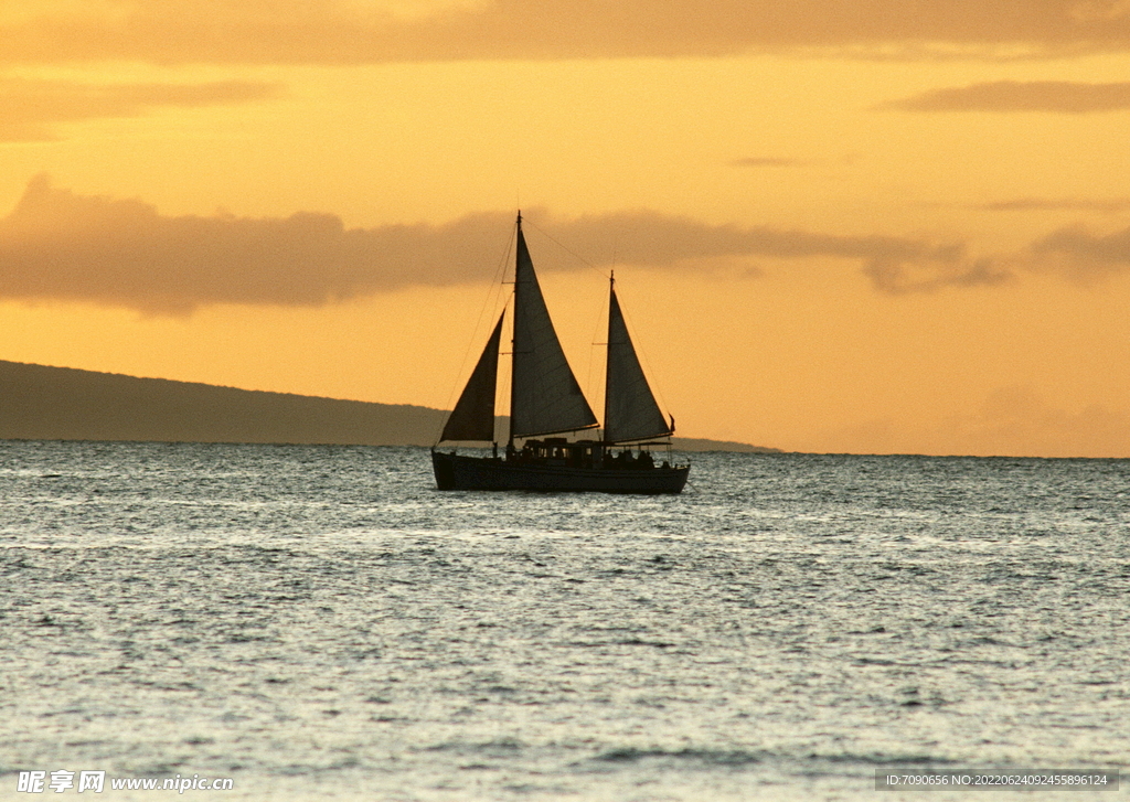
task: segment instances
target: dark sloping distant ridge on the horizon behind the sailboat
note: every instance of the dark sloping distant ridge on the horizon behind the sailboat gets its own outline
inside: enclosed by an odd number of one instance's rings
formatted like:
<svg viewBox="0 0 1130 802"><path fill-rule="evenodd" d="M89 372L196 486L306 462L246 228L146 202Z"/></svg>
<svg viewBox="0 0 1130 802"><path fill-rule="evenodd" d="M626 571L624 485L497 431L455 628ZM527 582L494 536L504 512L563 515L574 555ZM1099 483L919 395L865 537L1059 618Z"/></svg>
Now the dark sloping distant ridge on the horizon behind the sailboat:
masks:
<svg viewBox="0 0 1130 802"><path fill-rule="evenodd" d="M429 446L446 412L0 360L0 439ZM676 438L686 451L773 451Z"/></svg>

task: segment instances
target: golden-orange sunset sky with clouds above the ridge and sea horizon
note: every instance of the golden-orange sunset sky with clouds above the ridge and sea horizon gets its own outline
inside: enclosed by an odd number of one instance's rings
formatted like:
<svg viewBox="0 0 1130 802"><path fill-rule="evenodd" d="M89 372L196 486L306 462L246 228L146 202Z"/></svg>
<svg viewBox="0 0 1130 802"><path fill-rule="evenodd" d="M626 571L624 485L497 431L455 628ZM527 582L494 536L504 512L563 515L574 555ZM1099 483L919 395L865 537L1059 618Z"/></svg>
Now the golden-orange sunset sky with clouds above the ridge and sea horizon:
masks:
<svg viewBox="0 0 1130 802"><path fill-rule="evenodd" d="M594 409L615 269L680 435L1130 457L1128 0L20 0L0 43L0 359L450 408L521 208Z"/></svg>

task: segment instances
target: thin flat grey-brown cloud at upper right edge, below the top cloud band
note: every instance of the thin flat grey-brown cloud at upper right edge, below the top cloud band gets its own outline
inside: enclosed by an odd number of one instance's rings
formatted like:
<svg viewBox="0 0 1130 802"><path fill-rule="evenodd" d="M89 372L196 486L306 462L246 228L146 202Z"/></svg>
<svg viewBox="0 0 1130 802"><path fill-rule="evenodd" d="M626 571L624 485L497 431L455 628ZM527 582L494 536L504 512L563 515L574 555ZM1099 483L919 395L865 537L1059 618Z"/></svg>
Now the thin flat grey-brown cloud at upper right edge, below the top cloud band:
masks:
<svg viewBox="0 0 1130 802"><path fill-rule="evenodd" d="M1052 112L1088 114L1130 110L1130 81L993 81L933 89L877 106L901 112Z"/></svg>

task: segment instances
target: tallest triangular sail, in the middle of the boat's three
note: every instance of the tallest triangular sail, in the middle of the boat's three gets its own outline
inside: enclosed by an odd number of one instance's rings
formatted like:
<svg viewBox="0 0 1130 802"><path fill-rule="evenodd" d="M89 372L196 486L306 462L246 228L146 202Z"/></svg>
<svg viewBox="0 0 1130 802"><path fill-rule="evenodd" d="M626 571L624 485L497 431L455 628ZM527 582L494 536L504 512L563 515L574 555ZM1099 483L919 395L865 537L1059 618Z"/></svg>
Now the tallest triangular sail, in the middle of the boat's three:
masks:
<svg viewBox="0 0 1130 802"><path fill-rule="evenodd" d="M511 438L586 429L597 416L581 392L549 320L533 261L518 218L514 274L514 375Z"/></svg>

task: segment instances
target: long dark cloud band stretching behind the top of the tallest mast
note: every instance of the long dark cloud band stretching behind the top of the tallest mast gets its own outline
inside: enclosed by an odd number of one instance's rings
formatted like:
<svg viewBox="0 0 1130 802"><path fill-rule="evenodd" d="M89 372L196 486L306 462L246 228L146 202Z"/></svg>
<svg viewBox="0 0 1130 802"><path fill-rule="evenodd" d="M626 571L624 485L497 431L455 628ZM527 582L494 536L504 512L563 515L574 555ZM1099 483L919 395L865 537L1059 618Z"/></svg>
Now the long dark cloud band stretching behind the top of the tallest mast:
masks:
<svg viewBox="0 0 1130 802"><path fill-rule="evenodd" d="M695 270L709 260L748 265L754 258L829 256L861 264L877 289L895 294L1009 278L993 263L967 259L960 245L902 237L719 226L647 210L574 219L533 210L528 219L606 267L614 259ZM0 219L0 297L174 314L221 303L320 305L410 285L481 281L511 225L510 212L355 229L314 212L166 217L140 200L77 195L38 176ZM558 269L568 267L583 263Z"/></svg>

